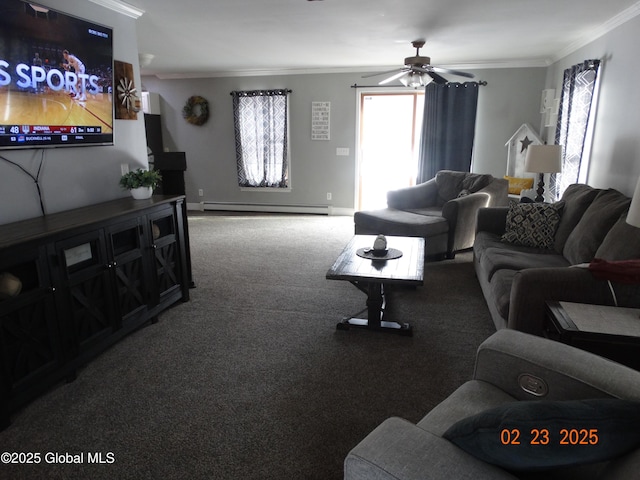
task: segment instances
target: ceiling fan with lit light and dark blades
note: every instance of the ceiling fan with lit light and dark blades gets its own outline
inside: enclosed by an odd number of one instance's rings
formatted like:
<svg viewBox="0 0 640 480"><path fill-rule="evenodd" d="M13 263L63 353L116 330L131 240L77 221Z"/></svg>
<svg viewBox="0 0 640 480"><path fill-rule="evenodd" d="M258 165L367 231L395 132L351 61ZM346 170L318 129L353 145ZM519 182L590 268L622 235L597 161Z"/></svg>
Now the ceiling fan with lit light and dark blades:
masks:
<svg viewBox="0 0 640 480"><path fill-rule="evenodd" d="M438 84L447 83L448 80L439 75L440 73L456 75L458 77L473 78L473 74L471 73L461 72L459 70L450 70L448 68L434 67L431 65L431 59L429 57L420 56L420 49L424 47L424 40L415 40L411 42L411 44L416 49L416 54L413 57L407 57L404 59L404 67L395 68L386 72L365 75L362 78L393 73L390 77L378 82L378 85L386 85L394 80L399 80L403 85L414 88L428 85L431 82Z"/></svg>

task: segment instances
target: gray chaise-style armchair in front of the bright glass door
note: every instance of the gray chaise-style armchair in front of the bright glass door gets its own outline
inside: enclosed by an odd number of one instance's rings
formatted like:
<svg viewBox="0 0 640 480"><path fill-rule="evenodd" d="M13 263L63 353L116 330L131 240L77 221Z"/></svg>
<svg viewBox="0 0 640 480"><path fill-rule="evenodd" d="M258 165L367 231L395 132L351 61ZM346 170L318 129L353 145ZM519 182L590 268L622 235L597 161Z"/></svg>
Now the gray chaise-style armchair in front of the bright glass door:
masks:
<svg viewBox="0 0 640 480"><path fill-rule="evenodd" d="M491 175L441 170L431 180L390 191L387 208L359 211L355 233L423 237L426 256L471 248L480 208L506 206L509 182Z"/></svg>

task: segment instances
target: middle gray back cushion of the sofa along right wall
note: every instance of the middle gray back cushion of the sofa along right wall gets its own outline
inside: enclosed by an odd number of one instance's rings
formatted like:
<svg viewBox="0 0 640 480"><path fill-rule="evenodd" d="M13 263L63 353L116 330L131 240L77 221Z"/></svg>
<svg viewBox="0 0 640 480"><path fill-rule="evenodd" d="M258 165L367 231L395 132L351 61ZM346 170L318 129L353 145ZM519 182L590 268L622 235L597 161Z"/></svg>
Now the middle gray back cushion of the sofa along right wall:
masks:
<svg viewBox="0 0 640 480"><path fill-rule="evenodd" d="M609 230L628 210L631 199L614 189L602 190L573 229L562 250L571 264L590 262Z"/></svg>

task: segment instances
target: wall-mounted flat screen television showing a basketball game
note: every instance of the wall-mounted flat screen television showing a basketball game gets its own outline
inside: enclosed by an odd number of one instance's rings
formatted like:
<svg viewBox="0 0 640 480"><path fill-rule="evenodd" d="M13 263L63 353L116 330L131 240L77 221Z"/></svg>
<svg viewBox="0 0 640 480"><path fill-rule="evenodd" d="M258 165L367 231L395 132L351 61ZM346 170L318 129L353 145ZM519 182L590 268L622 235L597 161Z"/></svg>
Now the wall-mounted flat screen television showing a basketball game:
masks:
<svg viewBox="0 0 640 480"><path fill-rule="evenodd" d="M0 2L0 148L113 145L113 29Z"/></svg>

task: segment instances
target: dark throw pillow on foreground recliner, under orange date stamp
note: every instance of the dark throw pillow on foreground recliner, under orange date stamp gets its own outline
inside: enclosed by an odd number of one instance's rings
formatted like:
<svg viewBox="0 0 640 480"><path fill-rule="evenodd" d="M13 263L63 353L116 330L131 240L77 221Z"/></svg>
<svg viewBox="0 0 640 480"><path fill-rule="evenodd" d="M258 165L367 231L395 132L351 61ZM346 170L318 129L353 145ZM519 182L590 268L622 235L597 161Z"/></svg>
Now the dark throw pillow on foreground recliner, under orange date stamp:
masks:
<svg viewBox="0 0 640 480"><path fill-rule="evenodd" d="M610 398L514 402L460 420L443 437L509 470L597 463L640 446L640 403Z"/></svg>

